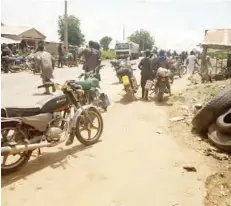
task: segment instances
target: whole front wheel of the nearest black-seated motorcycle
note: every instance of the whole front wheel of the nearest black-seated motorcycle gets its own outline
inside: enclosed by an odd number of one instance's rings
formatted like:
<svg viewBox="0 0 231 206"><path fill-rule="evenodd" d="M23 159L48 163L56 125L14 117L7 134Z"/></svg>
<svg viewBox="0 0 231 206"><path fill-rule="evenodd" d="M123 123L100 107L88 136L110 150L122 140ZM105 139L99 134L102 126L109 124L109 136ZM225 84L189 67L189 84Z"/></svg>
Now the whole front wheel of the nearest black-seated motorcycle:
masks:
<svg viewBox="0 0 231 206"><path fill-rule="evenodd" d="M97 124L96 124L97 122ZM87 138L84 137L84 132ZM93 137L91 138L91 134ZM97 109L90 108L84 112L76 122L76 137L86 146L97 143L103 132L103 118Z"/></svg>

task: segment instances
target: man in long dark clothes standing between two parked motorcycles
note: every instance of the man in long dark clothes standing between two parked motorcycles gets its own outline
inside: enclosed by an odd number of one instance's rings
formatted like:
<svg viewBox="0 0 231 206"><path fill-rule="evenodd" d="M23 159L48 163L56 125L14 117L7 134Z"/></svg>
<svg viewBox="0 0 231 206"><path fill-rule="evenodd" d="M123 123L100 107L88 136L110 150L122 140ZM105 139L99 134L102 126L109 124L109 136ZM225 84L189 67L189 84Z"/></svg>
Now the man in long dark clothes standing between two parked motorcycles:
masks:
<svg viewBox="0 0 231 206"><path fill-rule="evenodd" d="M152 80L153 72L151 69L151 52L149 50L145 51L145 57L140 61L138 68L141 70L141 88L142 88L142 98L148 100L148 92L145 92L145 84L147 80Z"/></svg>

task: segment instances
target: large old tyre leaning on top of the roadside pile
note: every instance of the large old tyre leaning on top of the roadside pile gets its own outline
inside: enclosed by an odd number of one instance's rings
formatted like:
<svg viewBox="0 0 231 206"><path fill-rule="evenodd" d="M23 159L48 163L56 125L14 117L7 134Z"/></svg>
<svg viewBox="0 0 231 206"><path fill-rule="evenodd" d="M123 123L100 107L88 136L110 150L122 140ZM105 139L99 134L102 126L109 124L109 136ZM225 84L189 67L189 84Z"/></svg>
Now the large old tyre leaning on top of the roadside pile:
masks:
<svg viewBox="0 0 231 206"><path fill-rule="evenodd" d="M231 89L222 90L194 116L192 125L198 133L206 133L208 127L231 107Z"/></svg>

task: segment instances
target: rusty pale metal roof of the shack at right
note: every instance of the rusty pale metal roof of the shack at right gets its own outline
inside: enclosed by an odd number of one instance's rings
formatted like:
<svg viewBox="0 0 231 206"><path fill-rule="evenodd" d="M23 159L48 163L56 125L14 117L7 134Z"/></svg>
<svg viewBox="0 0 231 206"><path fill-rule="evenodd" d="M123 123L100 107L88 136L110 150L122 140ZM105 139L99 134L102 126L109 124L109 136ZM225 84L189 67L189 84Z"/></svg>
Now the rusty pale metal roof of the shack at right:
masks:
<svg viewBox="0 0 231 206"><path fill-rule="evenodd" d="M231 46L231 29L208 30L202 45Z"/></svg>

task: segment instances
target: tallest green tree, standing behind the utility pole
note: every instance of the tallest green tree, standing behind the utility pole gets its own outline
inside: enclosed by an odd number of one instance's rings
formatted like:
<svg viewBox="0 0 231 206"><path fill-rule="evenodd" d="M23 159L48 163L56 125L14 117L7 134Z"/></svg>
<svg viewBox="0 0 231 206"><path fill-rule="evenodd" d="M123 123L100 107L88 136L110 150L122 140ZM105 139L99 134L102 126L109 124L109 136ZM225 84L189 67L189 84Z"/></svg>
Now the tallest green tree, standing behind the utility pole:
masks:
<svg viewBox="0 0 231 206"><path fill-rule="evenodd" d="M58 19L58 34L60 41L64 41L64 16L59 16ZM67 17L68 24L68 43L72 45L82 46L85 43L85 36L80 29L80 21L73 15Z"/></svg>

